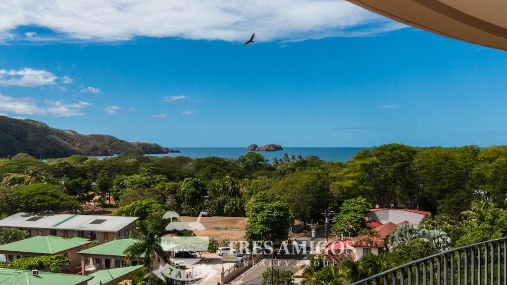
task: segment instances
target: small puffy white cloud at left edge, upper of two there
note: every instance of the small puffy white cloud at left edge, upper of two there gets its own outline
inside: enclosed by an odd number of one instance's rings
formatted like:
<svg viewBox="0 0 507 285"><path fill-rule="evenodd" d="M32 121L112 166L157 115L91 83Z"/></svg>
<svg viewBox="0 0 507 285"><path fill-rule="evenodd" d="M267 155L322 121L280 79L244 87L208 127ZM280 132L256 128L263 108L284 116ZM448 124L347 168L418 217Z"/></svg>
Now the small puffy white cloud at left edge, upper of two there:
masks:
<svg viewBox="0 0 507 285"><path fill-rule="evenodd" d="M25 67L19 70L0 69L0 85L34 87L55 84L57 77L44 69Z"/></svg>

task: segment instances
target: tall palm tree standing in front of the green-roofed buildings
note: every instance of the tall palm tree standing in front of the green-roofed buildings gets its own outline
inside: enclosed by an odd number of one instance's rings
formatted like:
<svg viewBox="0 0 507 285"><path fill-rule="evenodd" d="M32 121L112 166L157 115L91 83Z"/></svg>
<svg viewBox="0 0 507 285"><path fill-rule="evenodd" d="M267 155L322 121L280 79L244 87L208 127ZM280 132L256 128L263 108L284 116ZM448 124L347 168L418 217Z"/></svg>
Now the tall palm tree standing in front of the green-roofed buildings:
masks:
<svg viewBox="0 0 507 285"><path fill-rule="evenodd" d="M167 253L160 245L161 236L156 234L155 229L148 228L146 223L138 222L137 230L132 233L131 238L136 238L138 241L125 249L124 254L127 261L142 256L144 266L148 268L150 268L152 258L163 260L165 263L169 262Z"/></svg>

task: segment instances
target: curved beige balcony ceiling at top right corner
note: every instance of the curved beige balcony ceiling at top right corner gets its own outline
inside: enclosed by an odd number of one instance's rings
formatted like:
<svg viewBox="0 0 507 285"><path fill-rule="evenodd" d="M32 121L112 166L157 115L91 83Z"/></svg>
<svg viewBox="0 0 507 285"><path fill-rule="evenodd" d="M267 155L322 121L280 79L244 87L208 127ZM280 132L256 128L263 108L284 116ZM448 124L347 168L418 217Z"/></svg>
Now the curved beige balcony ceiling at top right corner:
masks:
<svg viewBox="0 0 507 285"><path fill-rule="evenodd" d="M507 51L507 0L348 0L444 37Z"/></svg>

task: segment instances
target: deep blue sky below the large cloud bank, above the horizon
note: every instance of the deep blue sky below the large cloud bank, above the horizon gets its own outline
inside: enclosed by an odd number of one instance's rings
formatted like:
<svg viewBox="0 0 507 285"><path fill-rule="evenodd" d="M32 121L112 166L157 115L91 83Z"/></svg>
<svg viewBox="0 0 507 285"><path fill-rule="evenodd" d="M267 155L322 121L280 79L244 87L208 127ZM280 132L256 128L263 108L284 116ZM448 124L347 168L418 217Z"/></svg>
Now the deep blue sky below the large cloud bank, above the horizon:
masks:
<svg viewBox="0 0 507 285"><path fill-rule="evenodd" d="M0 114L167 147L505 143L507 53L364 15L215 38L16 20L0 26Z"/></svg>

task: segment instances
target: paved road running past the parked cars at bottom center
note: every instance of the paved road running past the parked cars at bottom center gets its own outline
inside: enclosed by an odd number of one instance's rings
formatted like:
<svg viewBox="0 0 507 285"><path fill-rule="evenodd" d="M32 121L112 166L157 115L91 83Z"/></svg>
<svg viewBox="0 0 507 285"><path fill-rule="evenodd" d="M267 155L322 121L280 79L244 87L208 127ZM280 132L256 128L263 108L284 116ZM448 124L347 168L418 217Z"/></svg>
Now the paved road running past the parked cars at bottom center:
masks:
<svg viewBox="0 0 507 285"><path fill-rule="evenodd" d="M286 269L296 273L300 268L297 266L301 263L307 254L283 254L275 255L275 269ZM255 266L245 271L231 281L232 284L260 285L262 284L262 273L271 266L271 256L259 261Z"/></svg>

